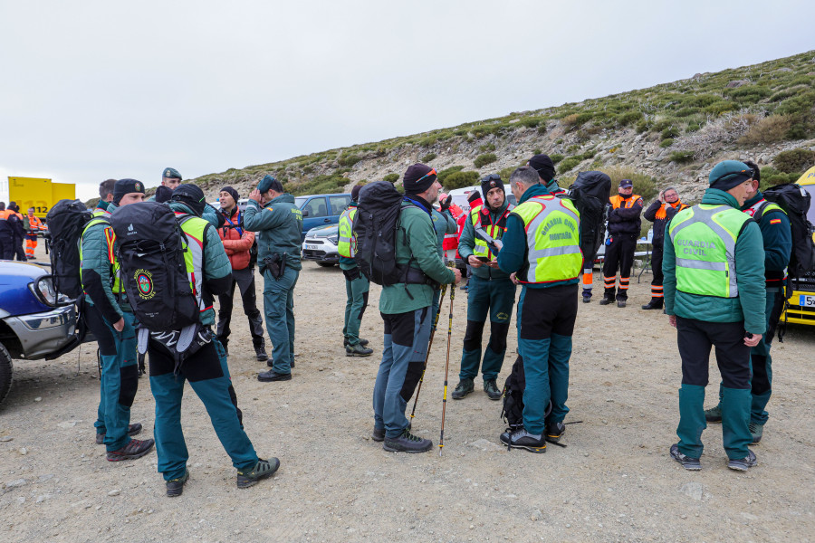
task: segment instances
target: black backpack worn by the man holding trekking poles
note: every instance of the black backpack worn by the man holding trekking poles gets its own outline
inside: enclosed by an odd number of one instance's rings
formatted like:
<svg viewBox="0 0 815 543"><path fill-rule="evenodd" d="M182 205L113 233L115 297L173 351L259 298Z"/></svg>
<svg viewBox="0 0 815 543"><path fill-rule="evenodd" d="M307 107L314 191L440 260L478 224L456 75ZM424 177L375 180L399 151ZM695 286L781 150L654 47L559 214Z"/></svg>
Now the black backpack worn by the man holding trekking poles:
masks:
<svg viewBox="0 0 815 543"><path fill-rule="evenodd" d="M402 195L392 183L376 181L360 190L360 205L354 216L357 238L354 260L369 281L393 285L403 281L405 266L396 262L396 232Z"/></svg>

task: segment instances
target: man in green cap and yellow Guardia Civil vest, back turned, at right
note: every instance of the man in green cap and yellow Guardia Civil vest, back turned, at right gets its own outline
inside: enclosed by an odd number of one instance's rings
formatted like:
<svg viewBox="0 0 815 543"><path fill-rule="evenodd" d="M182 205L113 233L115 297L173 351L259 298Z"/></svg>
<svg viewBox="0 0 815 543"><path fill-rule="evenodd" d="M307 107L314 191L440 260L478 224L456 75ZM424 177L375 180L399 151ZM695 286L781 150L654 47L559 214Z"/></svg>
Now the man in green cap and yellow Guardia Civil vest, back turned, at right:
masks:
<svg viewBox="0 0 815 543"><path fill-rule="evenodd" d="M665 309L677 329L682 357L679 442L671 457L686 470L701 470L705 386L710 349L722 374L721 401L727 467L747 471L756 463L747 448L751 405L750 348L762 339L764 248L762 233L741 212L752 188L753 170L725 160L710 172L700 205L680 211L667 225L662 270Z"/></svg>

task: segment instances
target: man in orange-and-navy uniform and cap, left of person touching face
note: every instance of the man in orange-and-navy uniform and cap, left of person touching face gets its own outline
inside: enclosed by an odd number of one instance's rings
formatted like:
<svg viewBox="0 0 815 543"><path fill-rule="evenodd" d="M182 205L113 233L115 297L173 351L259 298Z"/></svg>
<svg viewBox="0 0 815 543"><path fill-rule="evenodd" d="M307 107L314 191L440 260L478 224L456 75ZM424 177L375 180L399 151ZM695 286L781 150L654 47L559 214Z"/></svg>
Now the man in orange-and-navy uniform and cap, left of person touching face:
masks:
<svg viewBox="0 0 815 543"><path fill-rule="evenodd" d="M606 291L600 305L608 305L615 300L617 307L626 307L628 281L631 266L634 264L634 251L642 221L642 197L634 194L634 184L630 179L619 182L618 195L609 198L609 239L606 241L606 254L603 258L603 280ZM619 271L619 289L617 289Z"/></svg>

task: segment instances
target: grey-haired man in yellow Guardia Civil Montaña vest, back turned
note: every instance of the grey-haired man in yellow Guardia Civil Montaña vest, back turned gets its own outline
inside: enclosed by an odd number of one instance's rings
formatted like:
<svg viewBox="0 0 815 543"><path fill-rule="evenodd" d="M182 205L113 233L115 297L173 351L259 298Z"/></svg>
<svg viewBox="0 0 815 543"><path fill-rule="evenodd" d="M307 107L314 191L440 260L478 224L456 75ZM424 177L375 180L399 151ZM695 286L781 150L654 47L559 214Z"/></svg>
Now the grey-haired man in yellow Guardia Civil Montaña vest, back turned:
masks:
<svg viewBox="0 0 815 543"><path fill-rule="evenodd" d="M580 214L570 200L539 184L532 167L516 169L510 185L518 206L506 222L498 265L523 284L517 323L526 387L523 427L500 439L509 447L546 452L546 441L558 442L566 431L569 413L571 336L583 262Z"/></svg>

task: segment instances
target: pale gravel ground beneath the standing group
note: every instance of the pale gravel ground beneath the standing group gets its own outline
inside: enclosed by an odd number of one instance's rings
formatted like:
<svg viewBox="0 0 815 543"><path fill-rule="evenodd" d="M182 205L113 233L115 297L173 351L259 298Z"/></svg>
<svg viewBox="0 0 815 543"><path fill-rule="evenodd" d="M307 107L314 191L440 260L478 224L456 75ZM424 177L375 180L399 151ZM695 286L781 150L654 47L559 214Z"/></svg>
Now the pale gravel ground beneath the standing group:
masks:
<svg viewBox="0 0 815 543"><path fill-rule="evenodd" d="M42 250L42 247L40 248ZM230 368L246 431L260 455L281 459L272 480L235 487L235 470L187 386L182 420L190 452L184 495L168 499L155 452L106 462L94 444L99 400L95 346L53 362L15 361L0 408L0 533L13 541L806 541L815 538L811 371L815 329L792 327L773 348L771 420L754 447L759 464L725 467L721 427L705 432L702 472L668 454L676 441L680 383L676 332L638 309L580 304L571 358L570 424L545 454L507 451L500 402L476 392L448 401L439 456L382 451L369 439L379 364L379 287L363 336L375 354L341 348L343 277L307 262L295 297L297 367L259 383L248 329L235 310ZM595 285L599 284L595 273ZM262 286L258 284L258 294ZM597 298L595 299L597 300ZM240 308L240 304L236 304ZM446 308L449 304L445 304ZM450 390L457 382L466 295L456 291ZM446 334L436 337L416 433L437 445ZM245 346L241 348L240 346ZM514 328L499 385L514 359ZM716 395L712 363L708 404ZM480 381L480 380L479 380ZM152 432L149 381L132 421Z"/></svg>

